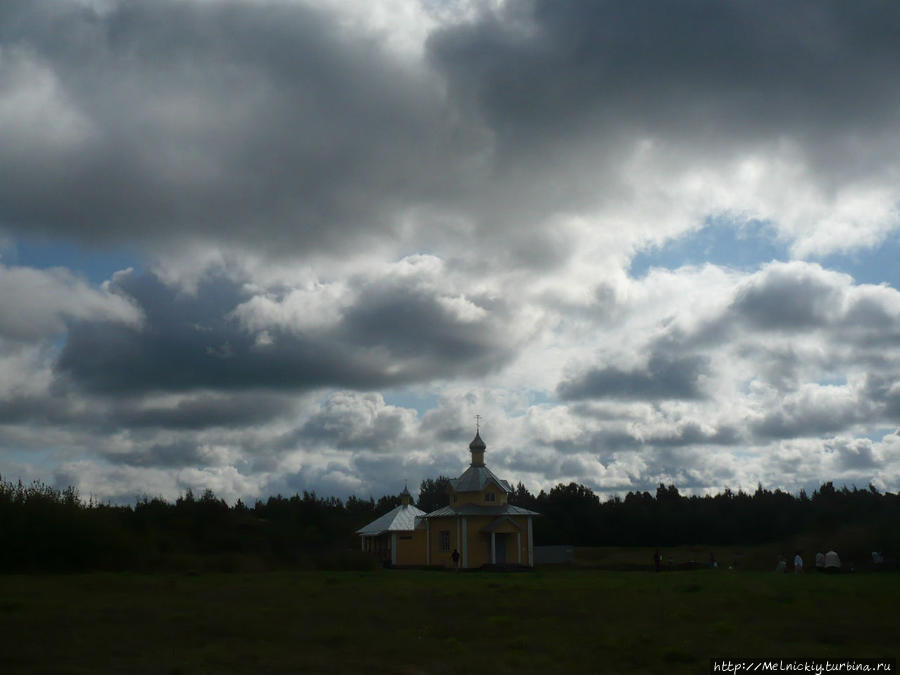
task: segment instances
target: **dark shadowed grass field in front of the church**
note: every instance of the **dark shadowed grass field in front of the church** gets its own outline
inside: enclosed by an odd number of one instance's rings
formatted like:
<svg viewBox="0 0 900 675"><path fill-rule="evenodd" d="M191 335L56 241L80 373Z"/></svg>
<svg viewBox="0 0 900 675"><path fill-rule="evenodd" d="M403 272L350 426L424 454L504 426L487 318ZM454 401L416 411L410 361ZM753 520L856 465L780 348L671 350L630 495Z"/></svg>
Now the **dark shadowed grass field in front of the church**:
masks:
<svg viewBox="0 0 900 675"><path fill-rule="evenodd" d="M900 575L267 572L0 576L2 673L705 673L891 657Z"/></svg>

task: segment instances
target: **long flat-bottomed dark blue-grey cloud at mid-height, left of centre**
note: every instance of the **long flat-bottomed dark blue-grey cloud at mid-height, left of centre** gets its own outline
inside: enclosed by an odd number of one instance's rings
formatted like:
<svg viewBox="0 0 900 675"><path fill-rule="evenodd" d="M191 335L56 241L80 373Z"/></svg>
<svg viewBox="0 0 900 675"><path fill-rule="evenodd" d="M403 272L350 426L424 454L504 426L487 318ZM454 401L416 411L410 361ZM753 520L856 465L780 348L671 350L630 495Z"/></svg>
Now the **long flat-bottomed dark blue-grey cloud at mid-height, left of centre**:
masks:
<svg viewBox="0 0 900 675"><path fill-rule="evenodd" d="M120 274L111 287L144 324L75 322L57 363L94 392L372 389L487 372L513 353L490 317L460 322L436 297L400 286L373 284L327 329L273 326L265 343L231 316L249 293L224 276L205 278L196 294L152 273Z"/></svg>

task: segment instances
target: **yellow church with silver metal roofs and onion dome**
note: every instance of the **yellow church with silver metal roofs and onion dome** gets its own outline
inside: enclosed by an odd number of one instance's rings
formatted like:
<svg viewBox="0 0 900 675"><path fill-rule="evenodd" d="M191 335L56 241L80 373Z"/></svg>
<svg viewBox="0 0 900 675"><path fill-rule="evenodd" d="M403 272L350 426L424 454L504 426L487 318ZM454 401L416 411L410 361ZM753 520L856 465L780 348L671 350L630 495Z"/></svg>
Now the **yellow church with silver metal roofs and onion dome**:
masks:
<svg viewBox="0 0 900 675"><path fill-rule="evenodd" d="M362 550L392 565L454 567L534 566L532 519L540 515L508 503L512 488L484 464L479 430L469 443L471 464L450 481L450 503L431 513L412 505L409 490L400 506L357 530Z"/></svg>

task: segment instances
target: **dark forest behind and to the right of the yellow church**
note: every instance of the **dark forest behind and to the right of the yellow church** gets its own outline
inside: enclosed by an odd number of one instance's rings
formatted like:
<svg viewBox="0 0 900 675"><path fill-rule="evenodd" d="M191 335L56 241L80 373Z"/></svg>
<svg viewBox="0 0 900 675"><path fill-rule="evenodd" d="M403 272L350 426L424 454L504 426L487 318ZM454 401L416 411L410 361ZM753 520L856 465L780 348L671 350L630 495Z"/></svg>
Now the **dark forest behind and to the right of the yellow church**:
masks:
<svg viewBox="0 0 900 675"><path fill-rule="evenodd" d="M447 504L450 479L422 483L424 511ZM823 483L811 495L767 490L726 489L715 495L687 496L674 485L655 493L629 492L602 500L584 485L559 484L537 495L519 483L509 502L541 517L534 519L539 545L677 546L682 544L753 545L789 539L801 533L828 537L855 529L856 547L900 549L900 495Z"/></svg>

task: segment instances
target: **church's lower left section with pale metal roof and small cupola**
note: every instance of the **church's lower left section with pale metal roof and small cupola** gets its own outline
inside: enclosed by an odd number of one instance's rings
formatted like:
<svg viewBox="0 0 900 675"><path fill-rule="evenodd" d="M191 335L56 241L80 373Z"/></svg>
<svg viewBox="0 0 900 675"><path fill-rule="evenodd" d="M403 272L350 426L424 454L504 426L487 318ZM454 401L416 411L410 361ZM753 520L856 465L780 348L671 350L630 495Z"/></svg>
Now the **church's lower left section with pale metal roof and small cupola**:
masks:
<svg viewBox="0 0 900 675"><path fill-rule="evenodd" d="M412 495L404 487L400 506L356 531L362 550L391 565L422 565L420 549L424 549L425 532L416 530L416 518L425 512L412 505Z"/></svg>

